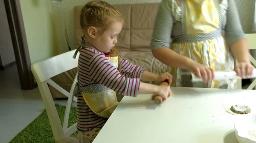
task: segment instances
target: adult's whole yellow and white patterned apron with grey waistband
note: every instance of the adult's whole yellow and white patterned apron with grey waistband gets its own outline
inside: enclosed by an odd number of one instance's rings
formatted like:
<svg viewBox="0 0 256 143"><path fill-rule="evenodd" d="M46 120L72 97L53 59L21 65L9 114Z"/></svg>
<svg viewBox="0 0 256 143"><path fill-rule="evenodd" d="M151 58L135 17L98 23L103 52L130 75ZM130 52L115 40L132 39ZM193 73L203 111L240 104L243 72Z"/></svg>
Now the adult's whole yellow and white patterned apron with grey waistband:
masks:
<svg viewBox="0 0 256 143"><path fill-rule="evenodd" d="M183 35L179 42L172 42L171 49L215 71L234 70L234 58L221 36L221 27L226 14L227 0L181 0L175 19L181 22ZM208 37L208 39L206 39ZM209 83L192 82L186 69L171 67L172 86L236 88L236 79L214 80Z"/></svg>

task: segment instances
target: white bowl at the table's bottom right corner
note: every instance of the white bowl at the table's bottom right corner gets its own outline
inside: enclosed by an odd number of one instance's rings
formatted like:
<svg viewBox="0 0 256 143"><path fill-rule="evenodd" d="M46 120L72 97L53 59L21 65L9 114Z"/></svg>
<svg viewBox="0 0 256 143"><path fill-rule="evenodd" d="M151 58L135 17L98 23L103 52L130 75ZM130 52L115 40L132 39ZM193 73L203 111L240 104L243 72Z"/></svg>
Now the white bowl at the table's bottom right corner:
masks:
<svg viewBox="0 0 256 143"><path fill-rule="evenodd" d="M256 143L256 115L241 116L234 126L239 143Z"/></svg>

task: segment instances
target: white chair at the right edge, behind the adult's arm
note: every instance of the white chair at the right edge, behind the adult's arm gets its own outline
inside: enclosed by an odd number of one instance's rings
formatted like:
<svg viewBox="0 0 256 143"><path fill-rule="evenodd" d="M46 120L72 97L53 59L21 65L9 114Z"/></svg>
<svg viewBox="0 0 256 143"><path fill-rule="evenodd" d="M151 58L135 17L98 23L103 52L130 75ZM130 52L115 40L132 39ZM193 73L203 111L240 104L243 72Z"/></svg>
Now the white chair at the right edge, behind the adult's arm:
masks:
<svg viewBox="0 0 256 143"><path fill-rule="evenodd" d="M250 50L256 50L256 34L245 34L248 46ZM250 61L252 64L256 66L256 60L253 58L253 56L250 55ZM256 86L256 79L253 80L253 82L247 87L247 90L252 90ZM242 81L241 79L238 80L238 89L242 89Z"/></svg>

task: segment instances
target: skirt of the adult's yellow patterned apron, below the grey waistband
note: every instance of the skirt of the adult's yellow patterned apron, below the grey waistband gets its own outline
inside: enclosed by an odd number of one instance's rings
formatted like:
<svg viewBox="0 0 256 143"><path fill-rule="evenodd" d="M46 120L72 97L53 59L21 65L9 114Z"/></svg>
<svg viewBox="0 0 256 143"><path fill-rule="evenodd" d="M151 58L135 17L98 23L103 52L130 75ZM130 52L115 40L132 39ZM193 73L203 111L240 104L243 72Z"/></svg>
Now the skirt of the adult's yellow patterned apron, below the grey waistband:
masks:
<svg viewBox="0 0 256 143"><path fill-rule="evenodd" d="M215 71L233 71L234 58L223 37L209 39L195 43L173 43L171 45L176 53L187 56L198 63L212 67ZM237 79L214 80L209 83L192 82L189 72L185 69L171 67L173 87L202 87L236 89Z"/></svg>

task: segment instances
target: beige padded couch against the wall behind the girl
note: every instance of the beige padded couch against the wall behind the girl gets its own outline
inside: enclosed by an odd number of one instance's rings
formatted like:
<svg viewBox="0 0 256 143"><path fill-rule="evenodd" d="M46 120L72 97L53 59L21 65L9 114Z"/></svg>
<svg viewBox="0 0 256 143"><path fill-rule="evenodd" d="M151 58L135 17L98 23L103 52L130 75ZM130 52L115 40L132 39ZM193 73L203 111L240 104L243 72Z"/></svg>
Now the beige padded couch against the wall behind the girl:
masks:
<svg viewBox="0 0 256 143"><path fill-rule="evenodd" d="M125 24L118 36L118 48L123 59L146 68L156 74L168 71L168 67L155 59L149 48L151 41L154 19L159 3L144 4L122 4L113 5L124 17ZM74 29L73 29L73 49L80 45L82 31L79 25L79 14L82 6L74 7ZM72 58L72 57L67 57ZM65 90L70 91L73 79L76 75L76 68L52 78ZM159 83L154 83L159 84ZM53 98L65 97L57 90L50 87Z"/></svg>

